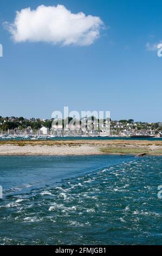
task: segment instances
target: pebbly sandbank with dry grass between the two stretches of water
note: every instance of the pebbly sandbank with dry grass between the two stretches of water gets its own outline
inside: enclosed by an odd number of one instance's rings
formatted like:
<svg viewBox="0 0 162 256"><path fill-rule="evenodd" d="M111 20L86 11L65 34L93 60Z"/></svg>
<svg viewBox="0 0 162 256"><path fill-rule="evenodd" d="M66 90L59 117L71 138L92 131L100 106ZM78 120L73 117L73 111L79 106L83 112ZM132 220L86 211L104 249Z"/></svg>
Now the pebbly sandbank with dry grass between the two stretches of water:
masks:
<svg viewBox="0 0 162 256"><path fill-rule="evenodd" d="M161 141L1 141L0 155L162 155Z"/></svg>

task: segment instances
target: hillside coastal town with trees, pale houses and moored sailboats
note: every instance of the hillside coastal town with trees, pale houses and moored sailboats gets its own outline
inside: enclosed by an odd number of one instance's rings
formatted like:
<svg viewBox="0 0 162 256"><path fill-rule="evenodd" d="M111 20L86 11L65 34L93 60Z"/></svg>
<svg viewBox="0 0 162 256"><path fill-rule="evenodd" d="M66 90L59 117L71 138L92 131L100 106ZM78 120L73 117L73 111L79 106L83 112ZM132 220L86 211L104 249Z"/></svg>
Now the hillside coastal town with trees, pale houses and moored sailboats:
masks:
<svg viewBox="0 0 162 256"><path fill-rule="evenodd" d="M85 117L81 120L68 117L39 119L0 117L0 136L3 137L61 137L61 136L111 136L111 137L161 137L162 122L145 123L128 120L99 120Z"/></svg>

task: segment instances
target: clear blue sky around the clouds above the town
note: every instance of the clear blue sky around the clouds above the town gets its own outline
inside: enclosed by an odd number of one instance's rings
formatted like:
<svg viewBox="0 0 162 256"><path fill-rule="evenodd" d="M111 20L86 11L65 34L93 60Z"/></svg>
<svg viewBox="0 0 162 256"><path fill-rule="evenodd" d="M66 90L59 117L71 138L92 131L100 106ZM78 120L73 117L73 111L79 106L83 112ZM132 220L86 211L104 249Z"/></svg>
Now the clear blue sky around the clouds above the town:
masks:
<svg viewBox="0 0 162 256"><path fill-rule="evenodd" d="M13 22L16 10L41 4L98 16L105 29L88 46L14 42L3 22ZM109 110L112 119L162 121L162 58L151 51L162 40L161 8L161 1L2 0L0 115L50 118L69 106Z"/></svg>

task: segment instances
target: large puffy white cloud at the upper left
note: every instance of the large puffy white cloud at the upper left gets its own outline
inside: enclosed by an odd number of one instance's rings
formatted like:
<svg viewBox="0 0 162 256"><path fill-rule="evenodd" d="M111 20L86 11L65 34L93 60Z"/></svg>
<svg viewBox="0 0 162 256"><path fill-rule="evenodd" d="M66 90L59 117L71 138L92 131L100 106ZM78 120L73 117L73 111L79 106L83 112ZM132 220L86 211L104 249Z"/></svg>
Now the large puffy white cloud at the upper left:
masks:
<svg viewBox="0 0 162 256"><path fill-rule="evenodd" d="M99 38L103 21L83 13L73 14L63 5L40 5L16 12L13 23L5 22L15 42L50 42L62 45L90 45Z"/></svg>

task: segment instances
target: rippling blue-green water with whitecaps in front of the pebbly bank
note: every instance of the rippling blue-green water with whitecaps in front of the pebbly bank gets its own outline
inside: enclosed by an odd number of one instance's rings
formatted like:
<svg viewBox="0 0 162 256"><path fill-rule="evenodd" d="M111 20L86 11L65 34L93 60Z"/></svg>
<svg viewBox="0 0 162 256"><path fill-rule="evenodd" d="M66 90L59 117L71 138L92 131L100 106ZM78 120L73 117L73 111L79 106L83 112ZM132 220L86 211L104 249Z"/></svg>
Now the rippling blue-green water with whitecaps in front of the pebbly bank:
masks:
<svg viewBox="0 0 162 256"><path fill-rule="evenodd" d="M162 157L0 157L0 244L162 244Z"/></svg>

